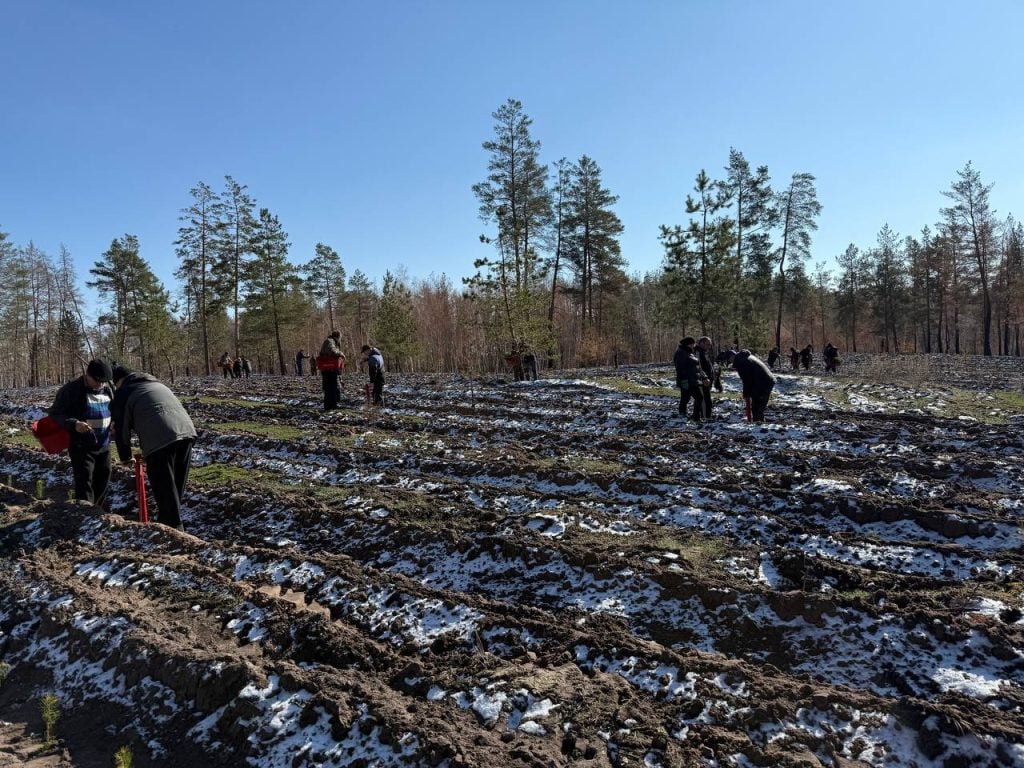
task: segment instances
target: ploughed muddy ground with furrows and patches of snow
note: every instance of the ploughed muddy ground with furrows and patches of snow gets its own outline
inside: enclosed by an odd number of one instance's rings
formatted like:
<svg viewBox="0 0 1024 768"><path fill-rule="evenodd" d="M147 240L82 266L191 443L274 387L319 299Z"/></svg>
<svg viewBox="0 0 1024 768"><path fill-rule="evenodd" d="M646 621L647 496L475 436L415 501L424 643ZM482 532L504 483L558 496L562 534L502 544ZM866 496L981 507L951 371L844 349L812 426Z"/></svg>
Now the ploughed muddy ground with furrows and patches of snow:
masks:
<svg viewBox="0 0 1024 768"><path fill-rule="evenodd" d="M0 766L1024 765L1019 360L559 377L179 382L185 534L0 395Z"/></svg>

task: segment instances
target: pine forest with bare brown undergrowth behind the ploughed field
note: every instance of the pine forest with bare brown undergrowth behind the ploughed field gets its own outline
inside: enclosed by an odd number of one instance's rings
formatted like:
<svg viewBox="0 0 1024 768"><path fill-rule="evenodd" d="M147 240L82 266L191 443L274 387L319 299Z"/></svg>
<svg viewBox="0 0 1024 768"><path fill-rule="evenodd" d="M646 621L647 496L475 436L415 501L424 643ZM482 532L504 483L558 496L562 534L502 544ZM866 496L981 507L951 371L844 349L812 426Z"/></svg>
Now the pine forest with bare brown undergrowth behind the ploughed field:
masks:
<svg viewBox="0 0 1024 768"><path fill-rule="evenodd" d="M1024 227L997 214L993 184L970 162L941 190L948 205L934 222L914 234L884 224L874 243L827 254L828 268L812 262L814 176L773 183L731 150L721 173L697 174L680 222L651 233L663 268L635 274L597 161L544 162L515 99L493 118L486 174L473 184L483 255L458 286L412 278L397 261L378 286L324 243L296 263L278 216L231 176L184 199L170 287L130 233L79 275L66 247L45 253L0 231L0 386L58 383L94 356L174 380L212 373L227 351L257 373L288 374L296 350L315 354L332 329L346 353L374 344L396 372L499 371L513 349L548 368L665 361L687 334L759 354L826 341L1021 354ZM83 281L98 316L84 311Z"/></svg>

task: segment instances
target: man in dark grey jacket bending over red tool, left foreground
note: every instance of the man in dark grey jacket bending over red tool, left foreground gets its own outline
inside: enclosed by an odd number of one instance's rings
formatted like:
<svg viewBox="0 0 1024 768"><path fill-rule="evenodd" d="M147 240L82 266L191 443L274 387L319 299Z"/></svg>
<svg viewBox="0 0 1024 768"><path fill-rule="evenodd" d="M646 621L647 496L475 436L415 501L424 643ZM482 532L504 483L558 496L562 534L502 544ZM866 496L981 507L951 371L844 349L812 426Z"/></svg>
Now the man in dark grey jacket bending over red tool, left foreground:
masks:
<svg viewBox="0 0 1024 768"><path fill-rule="evenodd" d="M117 391L111 416L118 456L125 464L131 463L131 435L137 434L157 502L157 521L184 530L181 496L188 480L196 427L174 392L150 374L133 374L118 366L114 383Z"/></svg>

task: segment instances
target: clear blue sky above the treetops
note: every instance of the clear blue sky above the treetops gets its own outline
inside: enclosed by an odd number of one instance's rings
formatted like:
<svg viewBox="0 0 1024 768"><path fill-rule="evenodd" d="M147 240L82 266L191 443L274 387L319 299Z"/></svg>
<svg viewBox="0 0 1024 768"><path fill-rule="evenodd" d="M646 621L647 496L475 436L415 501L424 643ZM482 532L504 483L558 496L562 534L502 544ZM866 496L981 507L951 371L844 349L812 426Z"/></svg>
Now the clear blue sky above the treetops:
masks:
<svg viewBox="0 0 1024 768"><path fill-rule="evenodd" d="M248 184L289 232L379 281L457 283L482 255L471 185L506 98L542 158L587 154L630 271L659 267L730 146L817 177L812 259L933 224L971 160L1024 218L1024 4L723 0L4 3L0 230L84 281L137 234L169 286L188 189Z"/></svg>

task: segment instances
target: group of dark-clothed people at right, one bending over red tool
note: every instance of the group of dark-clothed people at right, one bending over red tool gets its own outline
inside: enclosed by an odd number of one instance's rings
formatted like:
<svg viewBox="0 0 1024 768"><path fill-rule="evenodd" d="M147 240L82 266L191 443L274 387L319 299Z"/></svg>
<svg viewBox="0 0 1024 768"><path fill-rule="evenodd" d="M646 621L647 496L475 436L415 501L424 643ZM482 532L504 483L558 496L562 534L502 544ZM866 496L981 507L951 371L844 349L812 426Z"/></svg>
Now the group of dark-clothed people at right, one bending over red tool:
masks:
<svg viewBox="0 0 1024 768"><path fill-rule="evenodd" d="M676 385L680 392L679 415L685 417L689 402L693 400L689 418L697 424L712 418L712 388L722 391L722 370L712 361L712 340L708 336L699 339L687 336L679 342L673 356ZM758 423L764 422L765 410L775 388L775 377L768 366L749 349L728 349L720 359L730 364L739 375L748 418Z"/></svg>

